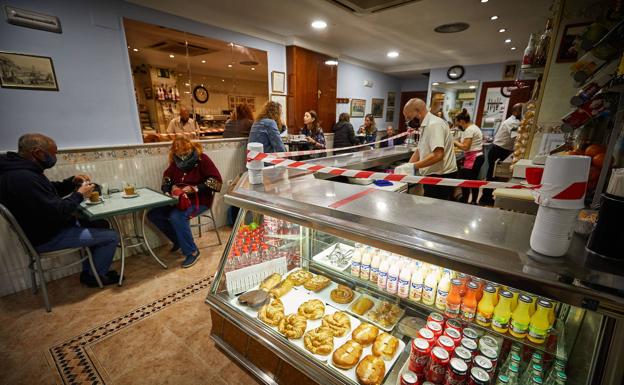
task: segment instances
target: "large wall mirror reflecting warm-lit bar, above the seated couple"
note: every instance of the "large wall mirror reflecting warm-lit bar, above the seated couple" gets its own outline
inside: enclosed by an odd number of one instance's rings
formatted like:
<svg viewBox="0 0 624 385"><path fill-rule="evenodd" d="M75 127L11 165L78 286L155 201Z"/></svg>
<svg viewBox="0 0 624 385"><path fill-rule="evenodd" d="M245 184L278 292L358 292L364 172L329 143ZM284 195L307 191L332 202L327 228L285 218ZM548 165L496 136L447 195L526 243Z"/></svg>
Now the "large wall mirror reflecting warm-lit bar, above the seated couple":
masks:
<svg viewBox="0 0 624 385"><path fill-rule="evenodd" d="M237 104L255 114L268 100L265 51L129 19L124 29L144 142L221 137Z"/></svg>

